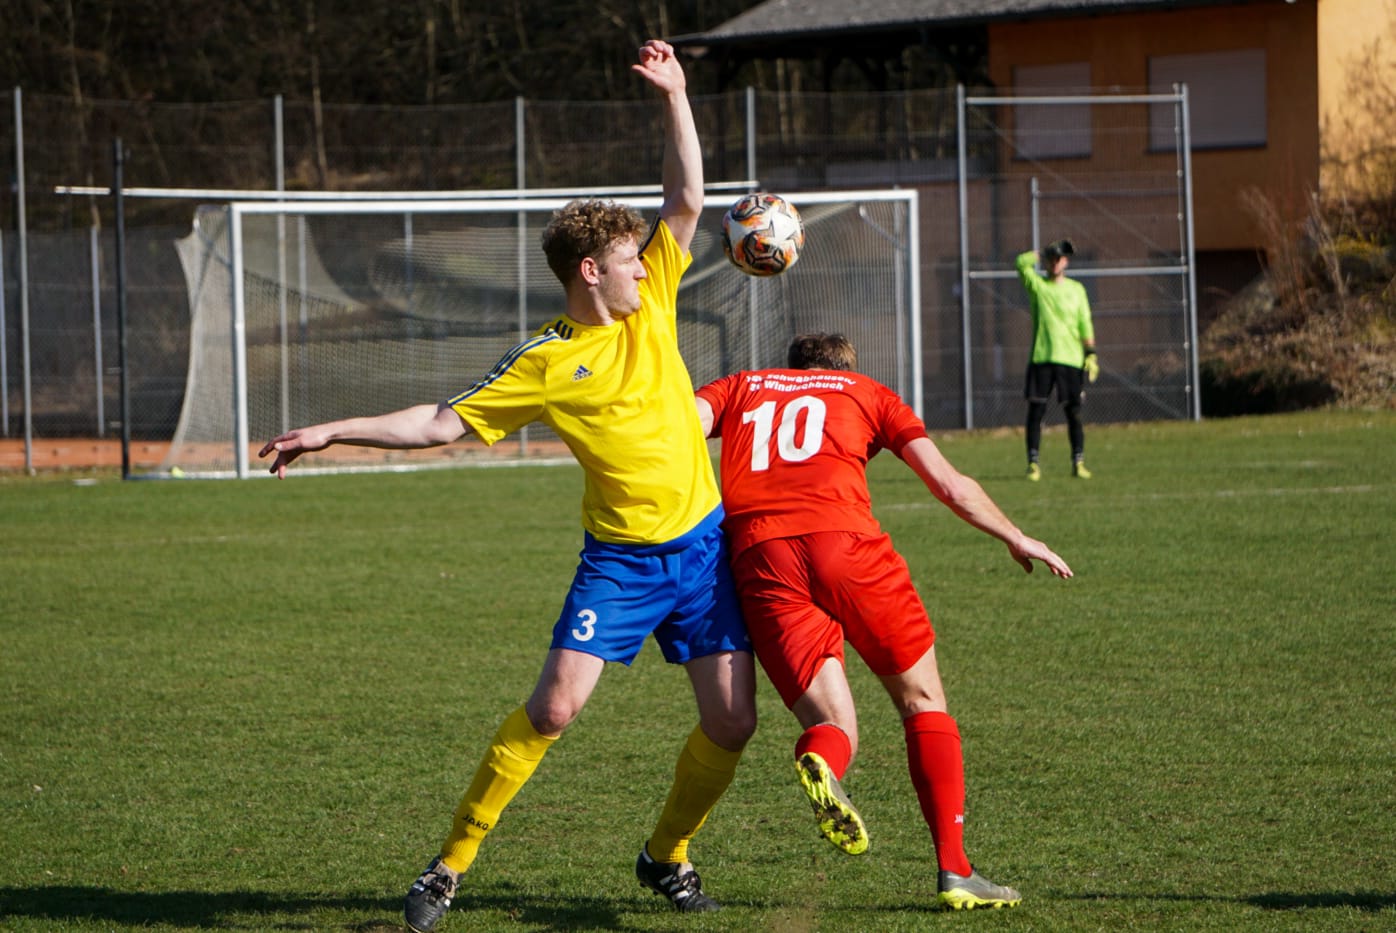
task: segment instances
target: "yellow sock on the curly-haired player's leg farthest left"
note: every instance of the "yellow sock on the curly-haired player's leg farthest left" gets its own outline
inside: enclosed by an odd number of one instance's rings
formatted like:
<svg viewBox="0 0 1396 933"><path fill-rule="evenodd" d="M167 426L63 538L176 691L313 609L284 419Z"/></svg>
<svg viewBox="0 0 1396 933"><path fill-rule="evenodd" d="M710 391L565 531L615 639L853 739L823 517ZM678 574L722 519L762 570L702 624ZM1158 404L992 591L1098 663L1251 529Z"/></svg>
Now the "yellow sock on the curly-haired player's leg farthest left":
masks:
<svg viewBox="0 0 1396 933"><path fill-rule="evenodd" d="M451 835L441 844L441 860L454 872L465 872L480 852L480 844L494 828L500 813L530 777L557 736L533 729L524 707L500 723L470 789L461 798L451 821Z"/></svg>

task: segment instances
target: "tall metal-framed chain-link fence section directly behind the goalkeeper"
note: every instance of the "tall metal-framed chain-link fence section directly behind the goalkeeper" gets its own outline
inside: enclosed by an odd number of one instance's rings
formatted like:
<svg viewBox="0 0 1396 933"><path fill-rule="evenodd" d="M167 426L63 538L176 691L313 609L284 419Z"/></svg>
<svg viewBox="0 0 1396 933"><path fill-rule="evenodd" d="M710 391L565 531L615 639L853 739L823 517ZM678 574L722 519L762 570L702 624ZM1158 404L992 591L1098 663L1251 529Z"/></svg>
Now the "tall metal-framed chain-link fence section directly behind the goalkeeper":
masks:
<svg viewBox="0 0 1396 933"><path fill-rule="evenodd" d="M966 399L967 423L1020 420L1033 335L1015 258L1061 237L1100 346L1089 416L1196 416L1185 110L1181 92L966 98L966 134L997 149L960 177L967 388L951 398Z"/></svg>

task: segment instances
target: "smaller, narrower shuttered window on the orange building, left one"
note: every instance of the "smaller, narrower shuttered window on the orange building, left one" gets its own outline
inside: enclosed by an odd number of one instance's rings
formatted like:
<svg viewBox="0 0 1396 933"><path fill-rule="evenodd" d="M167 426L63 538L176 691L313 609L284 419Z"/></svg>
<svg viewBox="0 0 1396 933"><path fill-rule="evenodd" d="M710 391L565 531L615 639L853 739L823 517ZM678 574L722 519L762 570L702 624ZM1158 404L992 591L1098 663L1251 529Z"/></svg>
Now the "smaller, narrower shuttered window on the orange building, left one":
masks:
<svg viewBox="0 0 1396 933"><path fill-rule="evenodd" d="M1013 68L1013 96L1051 98L1090 94L1090 63L1033 64ZM1090 155L1090 105L1013 106L1013 145L1022 159Z"/></svg>

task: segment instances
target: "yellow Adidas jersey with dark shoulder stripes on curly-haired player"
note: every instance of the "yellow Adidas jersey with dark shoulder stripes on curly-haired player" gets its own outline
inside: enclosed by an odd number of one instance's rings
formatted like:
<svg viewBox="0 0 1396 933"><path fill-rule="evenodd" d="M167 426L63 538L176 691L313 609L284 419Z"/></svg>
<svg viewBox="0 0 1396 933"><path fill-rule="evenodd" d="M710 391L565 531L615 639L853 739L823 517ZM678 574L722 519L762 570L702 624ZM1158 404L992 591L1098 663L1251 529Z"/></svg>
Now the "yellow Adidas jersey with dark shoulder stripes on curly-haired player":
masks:
<svg viewBox="0 0 1396 933"><path fill-rule="evenodd" d="M639 310L604 325L558 317L448 404L486 444L537 420L582 465L582 527L660 545L722 499L678 353L678 279L692 257L660 221L641 254Z"/></svg>

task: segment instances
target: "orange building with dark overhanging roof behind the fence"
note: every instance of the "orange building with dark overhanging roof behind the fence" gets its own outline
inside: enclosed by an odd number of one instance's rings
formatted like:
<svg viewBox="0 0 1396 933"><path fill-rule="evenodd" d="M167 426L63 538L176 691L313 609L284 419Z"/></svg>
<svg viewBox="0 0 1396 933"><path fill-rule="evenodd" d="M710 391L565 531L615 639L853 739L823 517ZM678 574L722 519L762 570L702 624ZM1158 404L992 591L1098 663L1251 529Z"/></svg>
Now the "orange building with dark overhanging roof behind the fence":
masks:
<svg viewBox="0 0 1396 933"><path fill-rule="evenodd" d="M743 63L803 57L824 74L861 74L874 89L906 52L945 63L965 84L1001 95L1120 94L1188 88L1198 282L1234 291L1258 271L1269 232L1254 201L1298 225L1309 197L1336 182L1336 156L1362 149L1376 115L1361 87L1396 68L1396 0L769 0L681 46L736 75ZM856 63L856 68L847 68ZM885 68L884 68L885 66ZM945 70L940 74L944 77ZM843 87L847 78L838 81ZM1121 138L1108 112L1092 116L1092 142L1058 156L1072 173L1092 161L1170 172L1174 152L1135 120ZM1011 161L1005 172L1029 173ZM871 177L867 179L872 182ZM900 179L892 179L900 180ZM933 196L934 197L934 196Z"/></svg>

